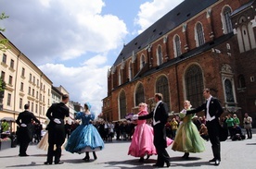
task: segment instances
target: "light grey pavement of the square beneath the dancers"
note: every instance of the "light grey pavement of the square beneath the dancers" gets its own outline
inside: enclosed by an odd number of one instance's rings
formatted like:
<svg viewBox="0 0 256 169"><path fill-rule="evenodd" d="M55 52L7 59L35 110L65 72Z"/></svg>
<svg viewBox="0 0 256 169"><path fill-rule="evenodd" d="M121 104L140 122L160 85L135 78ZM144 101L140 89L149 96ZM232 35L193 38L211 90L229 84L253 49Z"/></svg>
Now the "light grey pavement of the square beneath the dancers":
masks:
<svg viewBox="0 0 256 169"><path fill-rule="evenodd" d="M27 153L28 157L19 157L19 146L0 151L0 168L15 169L99 169L99 168L153 168L152 164L156 163L157 156L151 156L144 163L139 163L138 158L127 155L130 141L106 142L103 151L97 151L97 160L93 160L91 155L90 162L83 162L84 154L70 153L62 151L61 161L63 164L45 165L46 151L38 150L35 145L30 145ZM221 169L253 169L255 168L256 159L256 134L252 139L232 141L230 139L222 142L222 162L219 166L214 166L208 161L212 158L211 143L206 142L206 151L201 153L191 153L188 160L183 160L183 152L173 151L172 145L167 148L171 156L170 168L221 168Z"/></svg>

